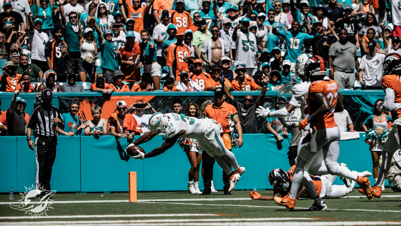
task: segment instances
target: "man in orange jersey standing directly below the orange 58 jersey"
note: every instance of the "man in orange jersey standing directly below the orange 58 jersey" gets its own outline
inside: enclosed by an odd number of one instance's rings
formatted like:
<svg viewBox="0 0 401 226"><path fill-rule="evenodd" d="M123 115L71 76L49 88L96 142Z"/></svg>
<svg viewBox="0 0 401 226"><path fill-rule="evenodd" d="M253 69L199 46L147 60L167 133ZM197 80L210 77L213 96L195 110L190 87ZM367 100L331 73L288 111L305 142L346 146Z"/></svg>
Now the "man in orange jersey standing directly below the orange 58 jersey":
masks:
<svg viewBox="0 0 401 226"><path fill-rule="evenodd" d="M189 71L189 64L191 63L191 52L184 41L184 31L178 30L176 34L177 42L168 47L167 62L168 70L170 70L170 77L175 78L176 83L180 81L180 73L182 71Z"/></svg>

